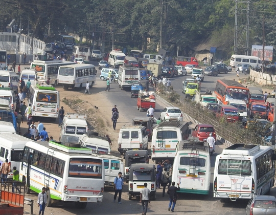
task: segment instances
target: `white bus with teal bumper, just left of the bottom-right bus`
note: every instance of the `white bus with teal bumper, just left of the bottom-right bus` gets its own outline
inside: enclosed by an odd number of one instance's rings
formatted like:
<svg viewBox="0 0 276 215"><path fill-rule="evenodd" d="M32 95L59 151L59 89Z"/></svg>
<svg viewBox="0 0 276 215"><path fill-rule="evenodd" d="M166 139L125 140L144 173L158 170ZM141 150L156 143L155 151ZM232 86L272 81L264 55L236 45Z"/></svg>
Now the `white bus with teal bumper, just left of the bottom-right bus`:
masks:
<svg viewBox="0 0 276 215"><path fill-rule="evenodd" d="M210 190L211 159L208 143L198 138L179 141L173 163L172 181L180 191L208 195Z"/></svg>

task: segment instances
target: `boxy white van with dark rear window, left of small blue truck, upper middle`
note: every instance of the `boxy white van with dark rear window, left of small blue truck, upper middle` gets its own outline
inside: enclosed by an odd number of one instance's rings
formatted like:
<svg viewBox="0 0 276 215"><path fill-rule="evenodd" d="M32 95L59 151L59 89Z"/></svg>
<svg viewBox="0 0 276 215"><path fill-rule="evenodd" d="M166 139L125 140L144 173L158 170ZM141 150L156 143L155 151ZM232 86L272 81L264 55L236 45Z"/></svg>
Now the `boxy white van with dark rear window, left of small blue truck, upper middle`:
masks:
<svg viewBox="0 0 276 215"><path fill-rule="evenodd" d="M141 80L140 69L131 65L120 66L118 73L118 83L121 90L130 88L132 83L138 83Z"/></svg>

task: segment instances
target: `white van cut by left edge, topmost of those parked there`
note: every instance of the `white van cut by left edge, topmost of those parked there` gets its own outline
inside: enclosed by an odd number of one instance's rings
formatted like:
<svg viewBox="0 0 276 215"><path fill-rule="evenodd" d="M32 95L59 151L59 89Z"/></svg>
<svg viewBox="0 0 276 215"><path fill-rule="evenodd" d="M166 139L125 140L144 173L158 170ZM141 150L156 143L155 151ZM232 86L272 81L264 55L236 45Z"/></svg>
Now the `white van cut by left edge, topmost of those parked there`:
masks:
<svg viewBox="0 0 276 215"><path fill-rule="evenodd" d="M15 72L0 70L0 88L10 88L18 92L18 76Z"/></svg>

